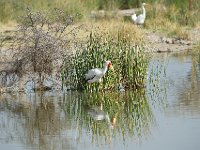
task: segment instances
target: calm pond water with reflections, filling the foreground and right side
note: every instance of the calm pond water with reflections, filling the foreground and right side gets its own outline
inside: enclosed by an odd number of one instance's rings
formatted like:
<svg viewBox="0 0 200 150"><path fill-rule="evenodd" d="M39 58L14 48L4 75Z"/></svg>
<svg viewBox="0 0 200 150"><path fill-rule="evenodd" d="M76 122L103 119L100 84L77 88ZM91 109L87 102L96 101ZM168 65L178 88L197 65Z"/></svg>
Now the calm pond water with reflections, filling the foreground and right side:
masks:
<svg viewBox="0 0 200 150"><path fill-rule="evenodd" d="M199 62L155 56L137 92L2 94L0 149L199 150Z"/></svg>

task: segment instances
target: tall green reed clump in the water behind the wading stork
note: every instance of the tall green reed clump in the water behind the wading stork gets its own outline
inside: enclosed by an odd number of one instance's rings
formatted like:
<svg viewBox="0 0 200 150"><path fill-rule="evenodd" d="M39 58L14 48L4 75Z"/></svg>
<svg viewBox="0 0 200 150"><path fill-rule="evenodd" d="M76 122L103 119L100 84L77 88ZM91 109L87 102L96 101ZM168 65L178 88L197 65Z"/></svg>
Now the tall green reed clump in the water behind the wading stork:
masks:
<svg viewBox="0 0 200 150"><path fill-rule="evenodd" d="M102 83L86 84L85 74L92 68L102 68L105 60L111 60L115 71L106 73ZM64 67L63 77L75 89L88 91L113 90L121 83L125 88L143 87L147 59L142 46L131 45L129 39L118 31L117 38L110 33L91 33L87 46L78 50L70 61L72 67Z"/></svg>

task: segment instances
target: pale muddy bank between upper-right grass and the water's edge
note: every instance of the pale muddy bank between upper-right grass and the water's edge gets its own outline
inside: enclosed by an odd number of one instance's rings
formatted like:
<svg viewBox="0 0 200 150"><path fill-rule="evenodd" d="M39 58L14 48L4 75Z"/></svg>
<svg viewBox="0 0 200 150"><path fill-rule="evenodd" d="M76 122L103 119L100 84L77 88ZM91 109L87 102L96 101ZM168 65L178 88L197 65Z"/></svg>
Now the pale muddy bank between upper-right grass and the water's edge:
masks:
<svg viewBox="0 0 200 150"><path fill-rule="evenodd" d="M166 37L160 33L146 31L145 33L145 50L146 52L183 52L192 50L200 42L200 29L188 31L190 39L180 39Z"/></svg>

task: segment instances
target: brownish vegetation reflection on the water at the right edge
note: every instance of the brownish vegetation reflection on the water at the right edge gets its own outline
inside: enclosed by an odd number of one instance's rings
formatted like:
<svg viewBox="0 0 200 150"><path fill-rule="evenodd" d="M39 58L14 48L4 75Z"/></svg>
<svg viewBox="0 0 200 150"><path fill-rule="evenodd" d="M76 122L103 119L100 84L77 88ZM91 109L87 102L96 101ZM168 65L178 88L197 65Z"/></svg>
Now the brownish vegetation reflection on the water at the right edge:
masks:
<svg viewBox="0 0 200 150"><path fill-rule="evenodd" d="M175 106L179 106L179 109L182 110L182 112L187 109L190 113L200 114L199 56L200 54L191 56L191 67L188 69L184 82L182 82L177 89L179 96L178 103L176 103Z"/></svg>

